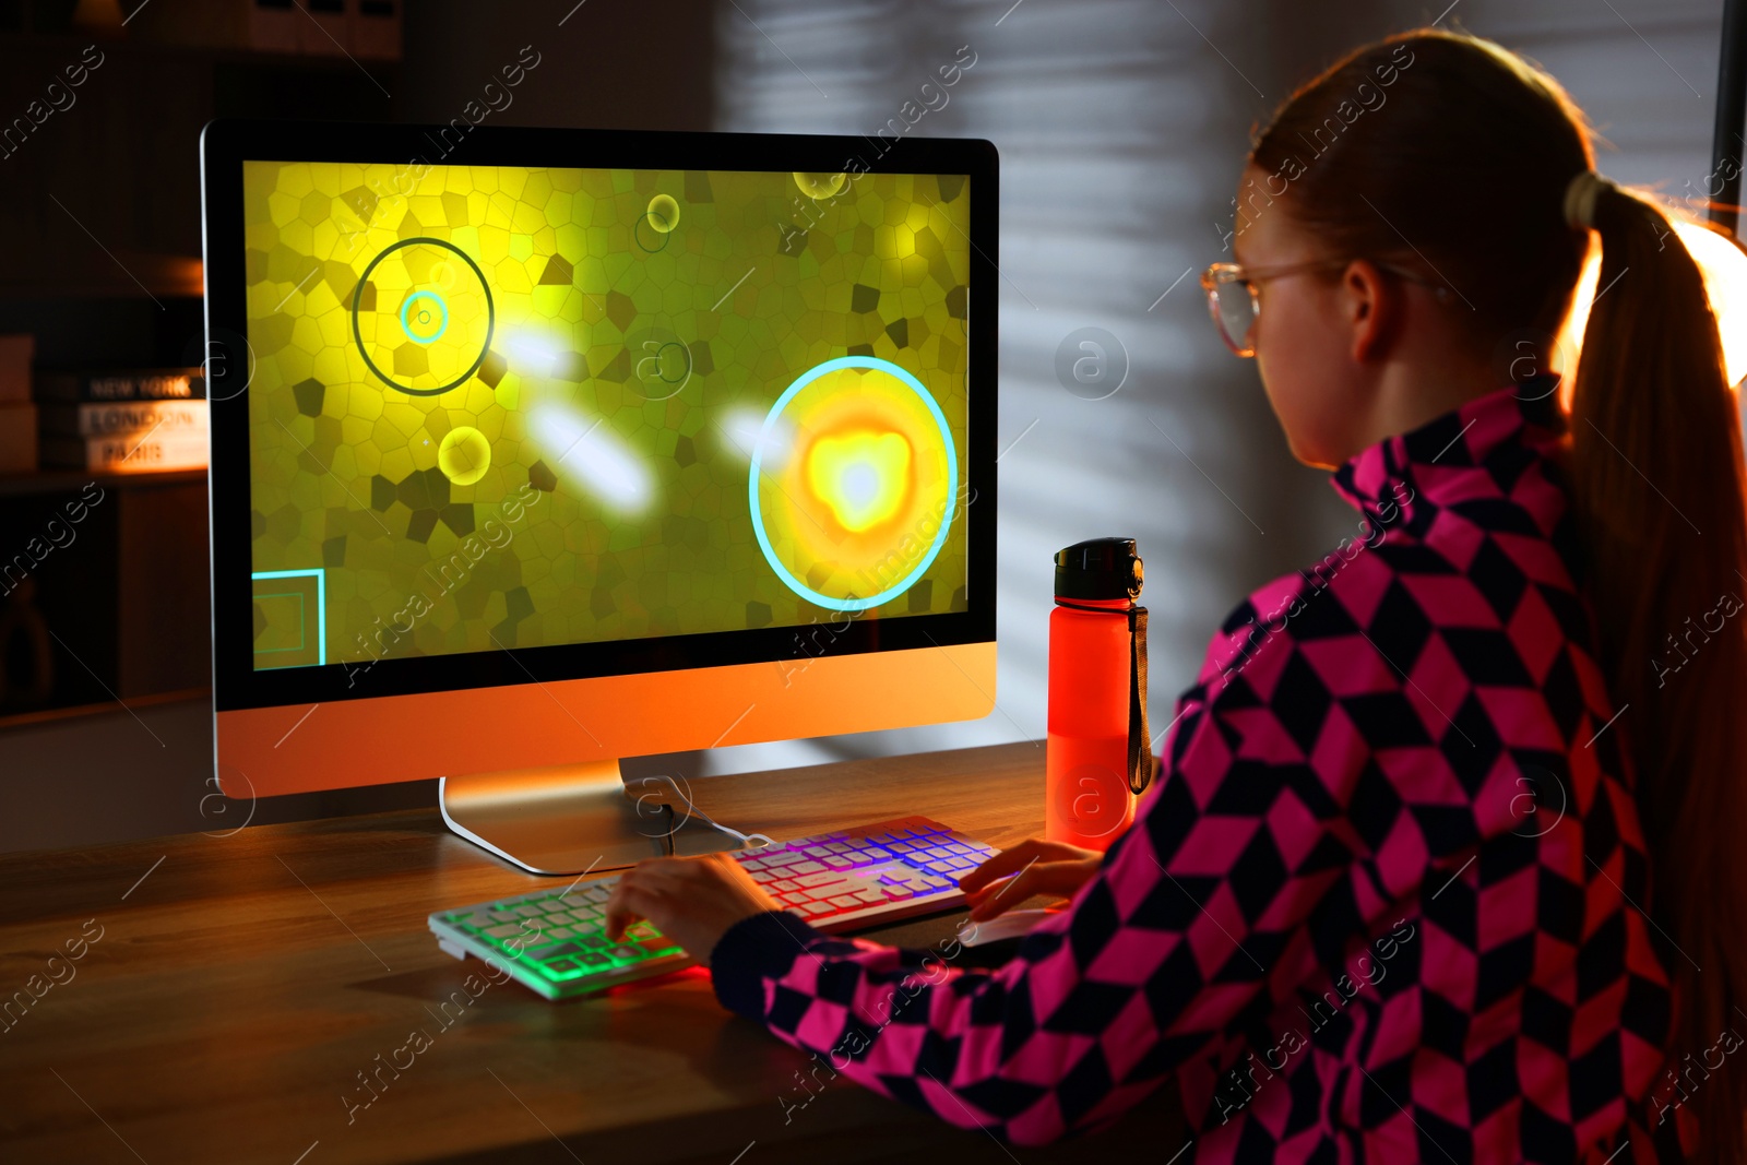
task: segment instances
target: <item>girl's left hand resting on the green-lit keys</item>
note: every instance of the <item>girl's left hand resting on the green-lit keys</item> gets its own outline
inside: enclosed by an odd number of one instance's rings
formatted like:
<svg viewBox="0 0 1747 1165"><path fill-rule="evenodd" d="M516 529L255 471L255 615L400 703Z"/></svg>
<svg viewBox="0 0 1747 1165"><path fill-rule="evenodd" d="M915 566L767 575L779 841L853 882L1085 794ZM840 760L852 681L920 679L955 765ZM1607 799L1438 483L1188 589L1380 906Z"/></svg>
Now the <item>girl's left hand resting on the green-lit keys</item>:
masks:
<svg viewBox="0 0 1747 1165"><path fill-rule="evenodd" d="M730 926L781 908L728 854L650 858L618 875L606 900L606 936L617 941L627 926L648 919L709 966L711 952Z"/></svg>

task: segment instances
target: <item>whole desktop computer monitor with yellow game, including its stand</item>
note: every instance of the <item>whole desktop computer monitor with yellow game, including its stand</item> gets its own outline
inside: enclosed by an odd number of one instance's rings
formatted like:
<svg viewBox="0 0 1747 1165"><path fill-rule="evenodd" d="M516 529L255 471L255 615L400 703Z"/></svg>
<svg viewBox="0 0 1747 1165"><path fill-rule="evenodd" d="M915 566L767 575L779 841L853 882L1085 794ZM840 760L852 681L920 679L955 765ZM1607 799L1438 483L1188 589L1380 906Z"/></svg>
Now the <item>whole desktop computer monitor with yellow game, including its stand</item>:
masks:
<svg viewBox="0 0 1747 1165"><path fill-rule="evenodd" d="M442 777L606 870L687 814L624 756L989 714L992 145L218 121L201 168L227 795Z"/></svg>

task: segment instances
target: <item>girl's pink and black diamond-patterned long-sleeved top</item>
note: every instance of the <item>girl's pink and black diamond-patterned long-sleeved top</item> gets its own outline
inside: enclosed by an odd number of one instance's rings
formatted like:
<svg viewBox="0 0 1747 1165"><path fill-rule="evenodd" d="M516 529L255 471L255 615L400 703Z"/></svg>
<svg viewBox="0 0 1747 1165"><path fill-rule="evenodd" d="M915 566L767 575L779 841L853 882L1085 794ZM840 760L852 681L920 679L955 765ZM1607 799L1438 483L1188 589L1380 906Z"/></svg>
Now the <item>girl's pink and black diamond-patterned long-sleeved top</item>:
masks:
<svg viewBox="0 0 1747 1165"><path fill-rule="evenodd" d="M1504 389L1347 463L1354 538L1232 613L1134 828L1006 966L763 913L718 997L1019 1144L1174 1081L1197 1162L1679 1160L1558 444Z"/></svg>

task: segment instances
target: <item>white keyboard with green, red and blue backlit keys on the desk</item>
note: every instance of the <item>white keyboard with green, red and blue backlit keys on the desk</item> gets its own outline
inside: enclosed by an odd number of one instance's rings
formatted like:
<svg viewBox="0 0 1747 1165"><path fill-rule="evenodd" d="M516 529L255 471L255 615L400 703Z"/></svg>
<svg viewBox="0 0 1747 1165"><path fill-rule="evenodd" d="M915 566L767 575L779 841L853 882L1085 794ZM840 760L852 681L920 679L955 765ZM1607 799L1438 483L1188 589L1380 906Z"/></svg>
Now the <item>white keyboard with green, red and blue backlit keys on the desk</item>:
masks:
<svg viewBox="0 0 1747 1165"><path fill-rule="evenodd" d="M950 910L959 875L996 852L938 821L900 817L732 854L777 903L825 931ZM582 996L690 966L648 922L622 941L604 934L617 875L430 915L437 943L456 959L491 957L549 999Z"/></svg>

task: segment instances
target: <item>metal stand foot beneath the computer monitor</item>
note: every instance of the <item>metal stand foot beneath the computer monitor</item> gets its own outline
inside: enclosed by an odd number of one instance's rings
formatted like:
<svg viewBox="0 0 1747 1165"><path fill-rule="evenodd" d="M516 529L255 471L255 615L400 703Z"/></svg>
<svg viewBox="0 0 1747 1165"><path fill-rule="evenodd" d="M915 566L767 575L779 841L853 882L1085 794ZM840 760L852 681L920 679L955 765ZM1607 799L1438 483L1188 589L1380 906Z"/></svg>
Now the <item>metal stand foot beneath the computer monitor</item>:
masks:
<svg viewBox="0 0 1747 1165"><path fill-rule="evenodd" d="M440 777L437 805L459 837L550 877L739 849L697 821L678 781L627 781L617 760Z"/></svg>

